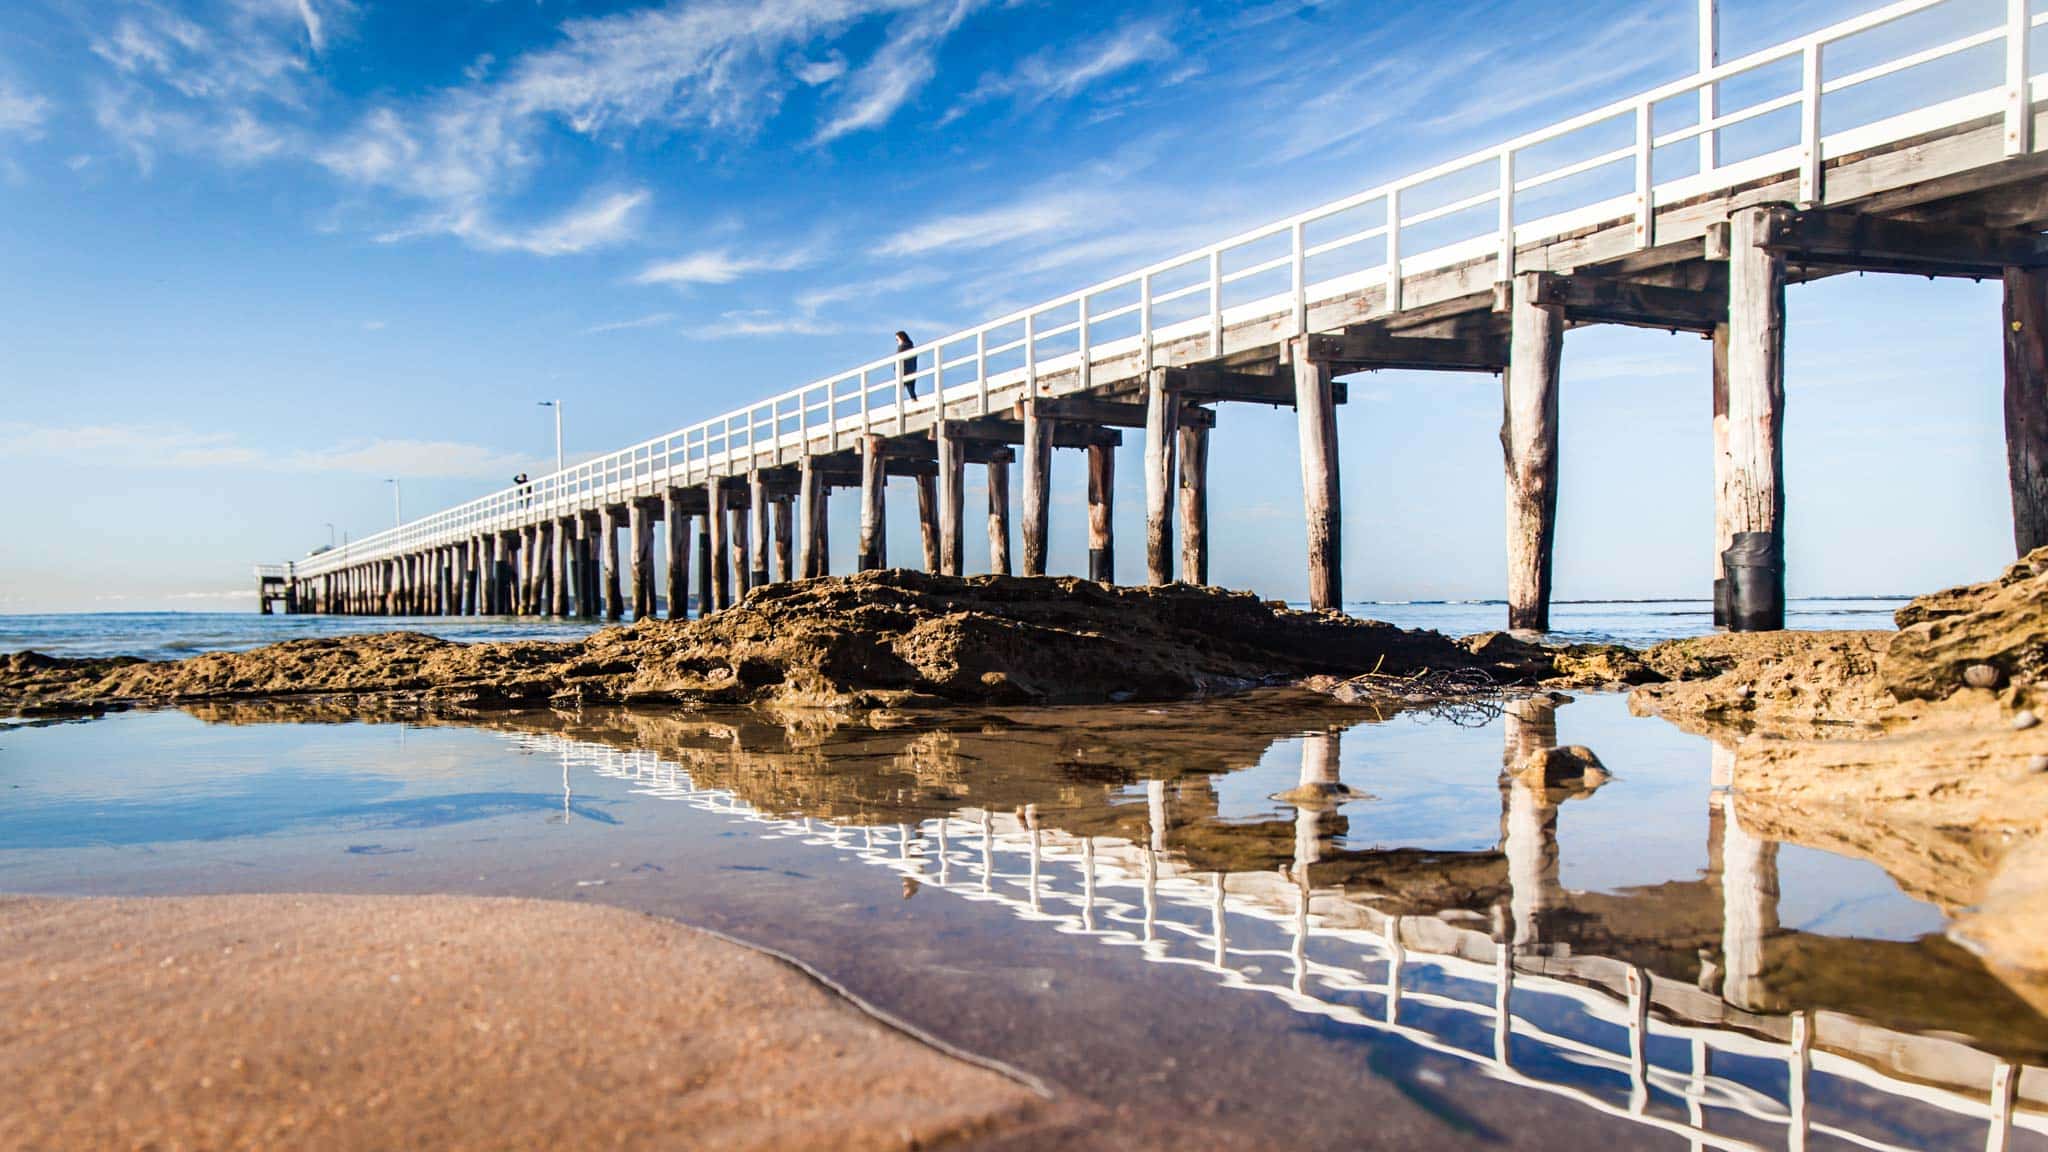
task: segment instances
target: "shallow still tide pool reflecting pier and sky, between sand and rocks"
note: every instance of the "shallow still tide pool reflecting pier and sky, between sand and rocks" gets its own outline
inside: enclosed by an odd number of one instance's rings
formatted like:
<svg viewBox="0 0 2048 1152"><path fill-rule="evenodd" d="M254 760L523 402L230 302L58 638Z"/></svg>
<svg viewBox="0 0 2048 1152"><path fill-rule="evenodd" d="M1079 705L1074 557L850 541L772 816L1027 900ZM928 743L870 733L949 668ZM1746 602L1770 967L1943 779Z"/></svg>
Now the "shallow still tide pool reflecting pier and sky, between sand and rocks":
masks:
<svg viewBox="0 0 2048 1152"><path fill-rule="evenodd" d="M1614 779L1501 775L1556 740ZM1059 1146L1982 1148L2009 1064L2048 1148L2048 1021L1882 869L1747 832L1724 763L1604 695L127 713L0 730L0 892L678 916L1100 1105Z"/></svg>

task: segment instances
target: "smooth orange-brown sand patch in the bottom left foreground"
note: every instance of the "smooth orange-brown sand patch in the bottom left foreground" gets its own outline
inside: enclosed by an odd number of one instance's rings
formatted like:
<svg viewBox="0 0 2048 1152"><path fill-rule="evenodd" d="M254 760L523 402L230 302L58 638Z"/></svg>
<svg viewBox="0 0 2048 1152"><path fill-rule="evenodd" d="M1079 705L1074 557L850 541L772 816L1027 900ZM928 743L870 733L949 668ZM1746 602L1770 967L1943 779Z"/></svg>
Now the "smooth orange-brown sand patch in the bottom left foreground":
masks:
<svg viewBox="0 0 2048 1152"><path fill-rule="evenodd" d="M0 900L0 1148L936 1148L1061 1105L608 908Z"/></svg>

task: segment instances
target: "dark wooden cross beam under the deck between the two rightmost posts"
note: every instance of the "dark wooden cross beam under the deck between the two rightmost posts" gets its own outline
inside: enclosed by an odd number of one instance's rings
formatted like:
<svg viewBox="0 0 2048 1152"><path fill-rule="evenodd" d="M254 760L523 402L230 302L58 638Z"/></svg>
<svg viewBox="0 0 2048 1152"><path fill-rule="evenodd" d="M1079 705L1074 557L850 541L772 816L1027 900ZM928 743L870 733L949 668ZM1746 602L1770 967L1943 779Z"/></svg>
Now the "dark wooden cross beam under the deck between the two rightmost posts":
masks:
<svg viewBox="0 0 2048 1152"><path fill-rule="evenodd" d="M2005 269L2048 266L2048 238L2038 232L1843 209L1772 213L1761 242L1788 264L1866 273L1997 279Z"/></svg>

